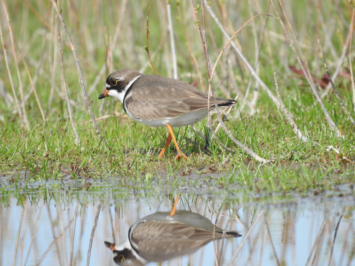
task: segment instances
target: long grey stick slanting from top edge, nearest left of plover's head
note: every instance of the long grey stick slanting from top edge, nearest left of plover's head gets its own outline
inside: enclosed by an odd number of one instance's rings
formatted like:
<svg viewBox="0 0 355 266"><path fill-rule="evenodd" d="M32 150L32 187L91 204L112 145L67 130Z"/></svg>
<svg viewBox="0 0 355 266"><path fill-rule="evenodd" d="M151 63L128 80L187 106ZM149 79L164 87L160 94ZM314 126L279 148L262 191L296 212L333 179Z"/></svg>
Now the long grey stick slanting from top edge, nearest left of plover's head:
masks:
<svg viewBox="0 0 355 266"><path fill-rule="evenodd" d="M76 68L78 70L78 75L79 75L79 80L80 80L80 85L81 85L81 90L83 92L83 95L84 95L84 99L86 101L86 106L88 108L88 111L89 111L89 114L91 116L91 119L92 119L92 123L93 123L93 127L95 128L95 131L96 131L96 134L99 136L99 138L101 139L102 138L102 135L101 135L101 132L100 132L100 129L96 123L96 120L95 120L95 116L94 116L94 113L92 111L92 108L91 108L91 105L90 105L90 102L89 102L89 99L88 99L88 96L87 96L87 93L86 93L86 89L85 89L85 84L84 84L84 79L83 79L83 75L82 75L82 72L81 72L81 67L80 67L80 63L79 63L79 59L78 59L78 55L76 53L76 50L75 50L75 47L74 47L74 44L73 44L73 41L71 40L71 37L70 37L70 34L68 32L68 29L64 23L64 20L63 20L63 17L62 15L60 14L60 11L58 9L58 5L56 3L56 0L52 0L52 3L53 3L53 6L55 8L55 12L57 13L57 16L59 17L59 20L60 22L62 23L63 25L63 28L65 30L65 33L67 35L67 38L69 40L69 43L70 43L70 49L71 51L73 52L73 55L74 55L74 58L75 58L75 63L76 63Z"/></svg>

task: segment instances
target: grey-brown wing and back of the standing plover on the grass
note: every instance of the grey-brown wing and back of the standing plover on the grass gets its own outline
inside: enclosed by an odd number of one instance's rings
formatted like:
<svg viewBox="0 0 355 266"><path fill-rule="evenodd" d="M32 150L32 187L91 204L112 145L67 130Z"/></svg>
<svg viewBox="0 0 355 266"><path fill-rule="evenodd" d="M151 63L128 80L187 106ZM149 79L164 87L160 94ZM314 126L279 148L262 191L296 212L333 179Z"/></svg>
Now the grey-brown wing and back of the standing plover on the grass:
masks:
<svg viewBox="0 0 355 266"><path fill-rule="evenodd" d="M134 117L148 121L174 118L208 107L207 95L190 84L171 78L142 76L135 82L134 93L131 92L125 98L126 109ZM229 100L218 99L218 103L226 101Z"/></svg>

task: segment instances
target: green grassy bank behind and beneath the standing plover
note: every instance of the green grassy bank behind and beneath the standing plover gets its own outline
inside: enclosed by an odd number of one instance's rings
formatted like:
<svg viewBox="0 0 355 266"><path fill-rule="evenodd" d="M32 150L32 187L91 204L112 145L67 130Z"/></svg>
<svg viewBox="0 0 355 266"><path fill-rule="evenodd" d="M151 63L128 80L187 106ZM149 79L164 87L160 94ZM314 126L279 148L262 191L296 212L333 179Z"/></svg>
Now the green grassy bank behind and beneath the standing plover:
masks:
<svg viewBox="0 0 355 266"><path fill-rule="evenodd" d="M266 6L263 6L264 2L261 1L261 3L262 13L275 15L273 9L267 12ZM251 16L249 4L241 4L237 13L226 9L229 4L232 3L225 3L220 7L213 3L212 6L218 17L223 17L224 24L232 34ZM54 50L54 47L58 45L54 12L49 15L50 20L44 19L47 16L47 10L53 11L51 3L44 6L42 2L34 1L32 5L39 16L47 21L52 31L48 31L22 1L13 1L6 5L17 44L15 52L18 57L17 66L20 71L21 85L24 95L29 96L24 100L29 130L21 127L2 54L0 56L0 78L4 83L5 96L3 95L1 97L3 100L0 100L0 110L3 110L0 115L0 173L2 173L3 195L8 189L20 191L31 187L35 187L35 190L69 189L69 187L74 189L72 184L76 184L76 187L81 189L96 191L100 190L100 187L105 189L107 184L111 184L118 191L126 192L135 190L150 190L158 193L160 191L186 191L208 195L223 194L231 198L237 193L263 197L268 195L309 196L326 192L334 192L337 195L339 185L345 184L348 187L354 183L354 125L341 109L334 93L329 93L323 103L335 124L343 132L345 139L337 138L331 131L320 106L317 103L314 104L315 97L305 79L297 76L288 68L288 65L297 68L299 66L289 44L283 39L282 29L275 18L268 18L263 35L259 62L260 77L274 91L273 72L277 72L284 104L296 124L310 139L309 142L302 143L295 136L284 114L277 109L261 88L259 88L256 102L256 112L253 115L250 115L251 107L248 104L244 109L240 108L251 77L233 50L229 48L225 50L216 69L219 81L213 79L214 89L218 96L225 97L225 92L228 92L234 97L239 91L241 92L238 100L240 105L232 111L226 125L236 139L257 155L265 159L275 159L275 162L260 166L258 162L244 154L222 129L217 133L218 138L223 145L233 150L233 154L225 151L215 139L210 141L209 146L206 146L205 141L191 127L184 127L175 129L175 133L180 148L189 156L189 160L174 161L173 145L170 145L164 158L158 159L156 156L165 143L167 135L165 128L151 128L131 120L125 115L122 104L116 99L111 97L101 101L97 99L109 74L109 70L105 70L102 75L99 74L104 64L113 69L131 67L139 70L145 66L143 72L152 73L147 67L148 57L143 49L146 45L148 6L151 6L149 52L158 74L171 76L171 49L163 8L165 4L163 7L157 6L154 1L142 6L139 1L129 1L129 6L122 7L120 4L115 4L115 8L111 8L93 0L91 4L77 3L76 7L81 6L79 13L73 6L67 6L66 2L60 6L79 55L84 82L95 117L119 113L118 117L111 115L98 120L104 140L100 139L90 122L91 118L84 103L80 84L78 84L72 53L68 48L65 34L62 32L66 82L80 139L78 146L74 142L67 105L63 100L59 51ZM92 9L95 5L99 5L99 11ZM321 23L318 17L333 17L333 9L322 8L321 12L317 13L314 6L304 10L300 6L297 7L299 4L287 3L287 5L287 10L294 11L292 16L291 13L288 15L291 17L293 30L299 38L311 72L316 78L321 78L325 73L323 61L318 57L317 38L320 38L321 43L324 44L323 51L329 64L328 67L331 73L334 72L343 49L343 41L348 34L344 21L350 23L352 7L344 3L338 7L344 12L342 17L334 18L337 25L334 28L328 24L322 25L323 22ZM333 4L324 3L324 6L331 5ZM120 13L122 8L125 8L126 12L120 25L117 12ZM181 9L186 39L178 21L174 20L178 17L178 8ZM206 91L208 84L203 50L191 3L182 1L179 6L176 6L174 2L171 10L178 56L178 73L182 80L196 82L199 89ZM307 13L308 27L304 26L304 22L301 23L303 16L299 16L304 12ZM253 10L252 13L256 15L258 12ZM23 16L16 14L23 14ZM253 30L256 32L256 39L260 38L264 18L259 17L253 20L236 37L236 41L240 43L243 53L252 65L256 54L255 38L252 32ZM206 23L209 55L214 63L226 40L211 17ZM7 22L3 17L1 25L7 56L10 59L13 85L21 104L21 95L18 90L20 83L13 60L11 40L7 34ZM111 66L109 61L105 63L107 41L112 41L116 27L119 27L121 33L117 37L118 43L114 50L110 50L113 56ZM329 31L327 34L331 36L330 42L324 37L324 28ZM314 32L320 34L320 37L315 37ZM41 49L42 46L44 49ZM196 57L198 71L190 57L188 46L191 47ZM37 68L39 69L35 89L46 115L44 122L31 91L31 84L22 60L29 65L31 79L34 78ZM349 72L348 68L349 64L345 60L343 72ZM198 72L201 73L202 79L198 77ZM96 87L91 88L96 78L99 78L100 82ZM247 100L252 99L254 86L253 83ZM349 77L344 74L340 75L335 80L335 86L354 117ZM319 90L321 93L322 89ZM22 107L21 111L23 111ZM195 126L201 130L203 135L208 135L206 120ZM334 151L327 151L330 145L337 148L341 155L337 155ZM348 160L343 160L343 156ZM339 192L341 193L343 192ZM353 191L349 188L345 189L345 193L351 194Z"/></svg>

